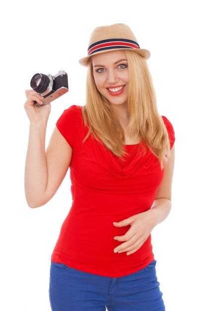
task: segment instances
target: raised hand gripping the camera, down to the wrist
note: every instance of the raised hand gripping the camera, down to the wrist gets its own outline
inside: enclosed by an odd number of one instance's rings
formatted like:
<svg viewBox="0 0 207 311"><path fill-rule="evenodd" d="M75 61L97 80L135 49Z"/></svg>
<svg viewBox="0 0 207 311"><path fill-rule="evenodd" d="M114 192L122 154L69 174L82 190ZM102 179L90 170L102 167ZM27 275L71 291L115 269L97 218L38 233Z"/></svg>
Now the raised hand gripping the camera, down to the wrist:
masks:
<svg viewBox="0 0 207 311"><path fill-rule="evenodd" d="M51 111L51 104L49 103L47 105L43 105L41 101L44 97L35 92L33 89L26 89L25 93L27 100L24 103L24 109L26 110L30 122L47 122ZM35 101L42 105L42 107L36 107L34 105Z"/></svg>

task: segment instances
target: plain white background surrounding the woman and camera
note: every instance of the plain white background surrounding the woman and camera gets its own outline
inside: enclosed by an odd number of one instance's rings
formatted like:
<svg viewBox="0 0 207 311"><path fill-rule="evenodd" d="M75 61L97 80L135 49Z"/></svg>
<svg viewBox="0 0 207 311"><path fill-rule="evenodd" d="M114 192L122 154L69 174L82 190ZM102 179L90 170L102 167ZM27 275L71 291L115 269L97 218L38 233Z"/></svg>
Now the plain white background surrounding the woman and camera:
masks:
<svg viewBox="0 0 207 311"><path fill-rule="evenodd" d="M135 6L136 5L136 6ZM1 4L0 310L50 311L50 256L71 205L69 171L46 205L24 194L29 119L25 89L35 73L65 70L69 92L51 103L46 148L55 123L85 104L92 30L125 23L147 61L160 115L175 131L172 209L152 231L166 311L207 310L207 44L205 1L8 1Z"/></svg>

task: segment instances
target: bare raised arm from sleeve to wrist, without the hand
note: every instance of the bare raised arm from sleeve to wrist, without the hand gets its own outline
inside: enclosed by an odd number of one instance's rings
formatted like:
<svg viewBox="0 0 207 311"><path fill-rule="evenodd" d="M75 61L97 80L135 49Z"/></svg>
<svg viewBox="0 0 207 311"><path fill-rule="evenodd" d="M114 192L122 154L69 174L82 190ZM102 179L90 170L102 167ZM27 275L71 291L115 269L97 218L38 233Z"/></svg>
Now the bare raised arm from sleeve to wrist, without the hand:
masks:
<svg viewBox="0 0 207 311"><path fill-rule="evenodd" d="M46 204L60 187L70 164L72 149L55 128L47 151L47 123L31 122L25 162L25 196L31 208Z"/></svg>

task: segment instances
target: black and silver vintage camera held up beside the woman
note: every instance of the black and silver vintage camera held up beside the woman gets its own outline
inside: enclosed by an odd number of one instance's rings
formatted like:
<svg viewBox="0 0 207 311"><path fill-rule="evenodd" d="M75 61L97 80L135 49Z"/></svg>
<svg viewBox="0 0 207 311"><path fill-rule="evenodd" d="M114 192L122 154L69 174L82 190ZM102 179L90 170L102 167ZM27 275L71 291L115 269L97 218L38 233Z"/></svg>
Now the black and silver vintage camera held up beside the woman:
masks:
<svg viewBox="0 0 207 311"><path fill-rule="evenodd" d="M34 91L44 97L43 105L62 96L69 90L68 75L65 71L59 71L55 76L50 74L35 74L30 81L30 86ZM35 101L36 107L42 107Z"/></svg>

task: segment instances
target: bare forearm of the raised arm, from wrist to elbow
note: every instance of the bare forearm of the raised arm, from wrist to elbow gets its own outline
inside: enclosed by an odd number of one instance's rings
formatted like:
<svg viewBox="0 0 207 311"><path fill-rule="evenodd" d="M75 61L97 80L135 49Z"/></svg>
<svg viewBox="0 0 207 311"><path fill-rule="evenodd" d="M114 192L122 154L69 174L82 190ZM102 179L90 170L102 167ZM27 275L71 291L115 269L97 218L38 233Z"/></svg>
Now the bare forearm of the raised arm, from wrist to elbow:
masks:
<svg viewBox="0 0 207 311"><path fill-rule="evenodd" d="M30 123L24 175L25 195L30 207L42 200L47 187L46 127L46 122Z"/></svg>

